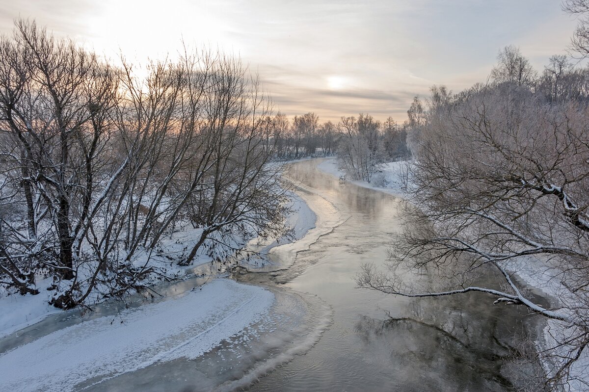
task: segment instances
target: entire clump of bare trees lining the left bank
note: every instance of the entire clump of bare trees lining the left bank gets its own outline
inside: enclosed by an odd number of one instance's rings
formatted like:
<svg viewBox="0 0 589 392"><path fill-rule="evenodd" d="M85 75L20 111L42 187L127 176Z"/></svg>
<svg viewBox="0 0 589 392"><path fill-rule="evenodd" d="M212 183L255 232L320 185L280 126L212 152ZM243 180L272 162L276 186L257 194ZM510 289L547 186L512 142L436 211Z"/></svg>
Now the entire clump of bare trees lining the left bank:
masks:
<svg viewBox="0 0 589 392"><path fill-rule="evenodd" d="M49 275L52 304L71 308L171 278L153 255L189 226L200 237L181 264L206 241L223 258L239 238L287 234L257 79L206 50L147 70L35 22L0 41L0 284L36 294Z"/></svg>

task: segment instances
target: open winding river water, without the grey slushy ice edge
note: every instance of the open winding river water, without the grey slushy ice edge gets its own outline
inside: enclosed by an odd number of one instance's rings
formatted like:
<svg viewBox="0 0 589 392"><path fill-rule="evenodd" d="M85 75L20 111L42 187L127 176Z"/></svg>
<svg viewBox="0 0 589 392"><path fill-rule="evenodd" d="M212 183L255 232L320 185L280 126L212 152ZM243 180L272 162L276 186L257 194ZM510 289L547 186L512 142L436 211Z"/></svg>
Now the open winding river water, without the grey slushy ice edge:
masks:
<svg viewBox="0 0 589 392"><path fill-rule="evenodd" d="M305 355L248 390L505 391L525 380L535 369L514 358L514 337L531 334L535 320L523 324L523 310L492 305L494 298L478 293L419 300L355 288L362 263L385 262L399 230L399 200L340 182L317 170L318 162L293 164L288 175L344 221L271 279L322 298L332 307L332 324ZM310 201L319 216L329 211ZM493 277L482 279L495 284Z"/></svg>

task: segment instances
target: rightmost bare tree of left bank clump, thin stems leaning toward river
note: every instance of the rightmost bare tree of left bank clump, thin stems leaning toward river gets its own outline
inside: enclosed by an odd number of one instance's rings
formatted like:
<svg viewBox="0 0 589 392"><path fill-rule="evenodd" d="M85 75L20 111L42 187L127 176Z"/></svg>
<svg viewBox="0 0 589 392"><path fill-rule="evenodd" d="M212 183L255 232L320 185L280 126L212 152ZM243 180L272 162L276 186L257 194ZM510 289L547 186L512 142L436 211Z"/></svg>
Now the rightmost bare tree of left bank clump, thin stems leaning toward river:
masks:
<svg viewBox="0 0 589 392"><path fill-rule="evenodd" d="M190 202L188 216L203 230L183 263L191 263L206 240L213 250L216 245L233 249L227 236L236 231L242 238L286 233L282 166L272 161L274 146L267 148L264 137L270 127L270 102L246 71L239 59L223 58L211 78L203 132L214 140L213 164L197 200Z"/></svg>

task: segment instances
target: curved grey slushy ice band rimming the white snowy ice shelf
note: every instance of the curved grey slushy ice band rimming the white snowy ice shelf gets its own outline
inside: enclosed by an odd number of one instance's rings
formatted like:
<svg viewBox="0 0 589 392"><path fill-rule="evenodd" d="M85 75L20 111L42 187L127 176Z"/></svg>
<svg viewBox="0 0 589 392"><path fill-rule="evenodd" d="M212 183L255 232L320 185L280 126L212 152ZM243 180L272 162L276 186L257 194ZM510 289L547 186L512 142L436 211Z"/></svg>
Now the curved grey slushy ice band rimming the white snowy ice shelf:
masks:
<svg viewBox="0 0 589 392"><path fill-rule="evenodd" d="M276 296L259 323L196 358L180 358L91 385L88 391L232 391L304 354L332 322L332 310L314 295L269 288Z"/></svg>

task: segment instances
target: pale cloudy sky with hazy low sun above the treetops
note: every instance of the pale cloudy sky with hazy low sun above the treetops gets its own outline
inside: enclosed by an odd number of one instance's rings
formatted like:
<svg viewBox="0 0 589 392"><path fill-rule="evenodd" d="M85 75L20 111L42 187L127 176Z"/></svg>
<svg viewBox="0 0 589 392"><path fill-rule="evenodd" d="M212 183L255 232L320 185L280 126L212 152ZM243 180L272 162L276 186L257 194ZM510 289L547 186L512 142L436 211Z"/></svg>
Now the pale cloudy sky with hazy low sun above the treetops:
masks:
<svg viewBox="0 0 589 392"><path fill-rule="evenodd" d="M100 54L145 64L182 41L239 55L275 110L398 122L432 85L485 82L506 45L541 71L577 21L558 0L0 0L0 32L36 19Z"/></svg>

